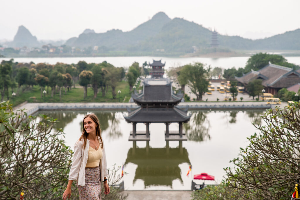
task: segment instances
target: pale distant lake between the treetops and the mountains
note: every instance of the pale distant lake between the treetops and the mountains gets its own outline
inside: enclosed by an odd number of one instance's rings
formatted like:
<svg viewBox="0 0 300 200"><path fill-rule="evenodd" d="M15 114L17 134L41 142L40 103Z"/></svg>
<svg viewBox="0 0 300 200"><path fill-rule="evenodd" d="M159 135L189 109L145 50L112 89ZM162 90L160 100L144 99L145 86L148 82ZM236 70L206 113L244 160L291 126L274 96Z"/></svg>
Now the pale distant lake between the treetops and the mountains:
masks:
<svg viewBox="0 0 300 200"><path fill-rule="evenodd" d="M166 62L165 69L170 67L179 67L185 64L201 62L203 64L211 65L211 67L222 67L228 69L231 67L239 68L245 67L247 60L250 56L245 57L227 57L227 58L168 58L168 57L152 57L152 56L128 56L128 57L69 57L69 58L14 58L15 62L31 62L34 63L49 63L56 64L57 62L63 62L66 64L78 63L79 61L86 61L87 63L101 63L107 61L113 64L115 67L129 67L133 62L139 62L140 65L145 61L152 62L152 59ZM288 62L300 65L300 56L285 57ZM1 58L2 60L10 60L11 58Z"/></svg>

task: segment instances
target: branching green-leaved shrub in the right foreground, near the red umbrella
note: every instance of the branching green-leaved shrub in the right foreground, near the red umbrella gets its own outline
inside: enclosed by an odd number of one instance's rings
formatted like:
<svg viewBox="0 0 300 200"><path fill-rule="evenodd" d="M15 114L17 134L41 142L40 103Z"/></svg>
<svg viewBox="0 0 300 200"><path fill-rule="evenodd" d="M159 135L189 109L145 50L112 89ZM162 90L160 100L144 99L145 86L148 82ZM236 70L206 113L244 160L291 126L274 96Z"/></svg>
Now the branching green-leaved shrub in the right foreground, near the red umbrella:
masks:
<svg viewBox="0 0 300 200"><path fill-rule="evenodd" d="M193 193L193 199L291 199L300 179L299 103L269 109L246 148L225 168L224 181Z"/></svg>

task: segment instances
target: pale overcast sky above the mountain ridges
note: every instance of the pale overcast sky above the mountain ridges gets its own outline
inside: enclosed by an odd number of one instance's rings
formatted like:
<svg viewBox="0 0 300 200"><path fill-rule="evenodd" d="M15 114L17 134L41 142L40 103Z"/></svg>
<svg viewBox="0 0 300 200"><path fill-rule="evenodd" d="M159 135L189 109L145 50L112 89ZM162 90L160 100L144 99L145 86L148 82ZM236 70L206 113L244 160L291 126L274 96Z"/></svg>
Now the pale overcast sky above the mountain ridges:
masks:
<svg viewBox="0 0 300 200"><path fill-rule="evenodd" d="M251 39L300 28L299 0L1 0L0 5L0 40L13 40L20 25L38 40L67 40L86 28L130 31L160 11Z"/></svg>

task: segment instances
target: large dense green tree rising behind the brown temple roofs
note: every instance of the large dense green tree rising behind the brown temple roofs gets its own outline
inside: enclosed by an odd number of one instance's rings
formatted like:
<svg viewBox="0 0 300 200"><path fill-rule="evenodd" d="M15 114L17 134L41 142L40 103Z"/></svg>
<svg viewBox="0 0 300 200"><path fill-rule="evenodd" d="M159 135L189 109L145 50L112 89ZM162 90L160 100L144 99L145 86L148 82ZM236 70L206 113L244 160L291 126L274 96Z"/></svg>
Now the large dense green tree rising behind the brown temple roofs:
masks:
<svg viewBox="0 0 300 200"><path fill-rule="evenodd" d="M252 55L245 66L245 73L250 72L251 69L257 71L260 70L262 67L265 67L269 61L272 64L281 65L284 67L297 67L295 64L288 63L286 59L282 55L276 54L268 54L268 53L257 53Z"/></svg>

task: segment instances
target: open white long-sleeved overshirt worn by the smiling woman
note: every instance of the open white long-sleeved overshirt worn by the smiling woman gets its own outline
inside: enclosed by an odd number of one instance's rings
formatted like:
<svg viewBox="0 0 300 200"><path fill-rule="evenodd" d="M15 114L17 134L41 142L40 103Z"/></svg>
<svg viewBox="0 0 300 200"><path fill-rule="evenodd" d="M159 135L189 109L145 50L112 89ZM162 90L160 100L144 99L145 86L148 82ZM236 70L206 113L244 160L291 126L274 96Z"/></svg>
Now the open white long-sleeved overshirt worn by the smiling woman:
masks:
<svg viewBox="0 0 300 200"><path fill-rule="evenodd" d="M101 142L100 138L98 138ZM85 185L85 166L88 160L88 148L90 141L86 139L86 146L83 149L83 141L78 140L74 146L73 162L69 172L69 180L76 180L78 185ZM100 146L101 147L101 143ZM105 149L103 144L103 156L100 160L100 181L104 181L104 177L108 177Z"/></svg>

